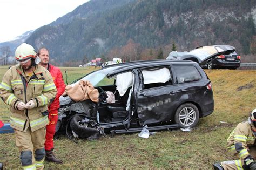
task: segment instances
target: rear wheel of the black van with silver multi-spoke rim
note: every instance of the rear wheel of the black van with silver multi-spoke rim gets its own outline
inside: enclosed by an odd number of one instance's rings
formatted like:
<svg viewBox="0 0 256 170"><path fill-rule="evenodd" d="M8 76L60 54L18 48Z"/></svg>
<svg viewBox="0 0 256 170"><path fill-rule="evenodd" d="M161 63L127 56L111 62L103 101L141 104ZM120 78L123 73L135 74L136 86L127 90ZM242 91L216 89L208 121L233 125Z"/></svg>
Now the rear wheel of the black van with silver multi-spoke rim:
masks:
<svg viewBox="0 0 256 170"><path fill-rule="evenodd" d="M174 121L182 128L194 127L199 120L199 110L192 103L185 103L178 107L174 115Z"/></svg>

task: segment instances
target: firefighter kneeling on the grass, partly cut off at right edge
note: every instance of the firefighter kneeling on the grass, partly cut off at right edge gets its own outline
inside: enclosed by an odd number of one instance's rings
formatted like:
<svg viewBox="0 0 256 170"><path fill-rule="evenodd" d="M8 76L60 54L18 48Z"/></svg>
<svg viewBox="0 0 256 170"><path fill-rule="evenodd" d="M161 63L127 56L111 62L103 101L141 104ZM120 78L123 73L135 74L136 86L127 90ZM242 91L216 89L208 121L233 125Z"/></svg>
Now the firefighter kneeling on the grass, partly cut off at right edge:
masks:
<svg viewBox="0 0 256 170"><path fill-rule="evenodd" d="M224 161L221 165L214 164L214 169L256 169L255 135L256 108L250 114L248 121L238 124L227 139L228 150L239 159Z"/></svg>

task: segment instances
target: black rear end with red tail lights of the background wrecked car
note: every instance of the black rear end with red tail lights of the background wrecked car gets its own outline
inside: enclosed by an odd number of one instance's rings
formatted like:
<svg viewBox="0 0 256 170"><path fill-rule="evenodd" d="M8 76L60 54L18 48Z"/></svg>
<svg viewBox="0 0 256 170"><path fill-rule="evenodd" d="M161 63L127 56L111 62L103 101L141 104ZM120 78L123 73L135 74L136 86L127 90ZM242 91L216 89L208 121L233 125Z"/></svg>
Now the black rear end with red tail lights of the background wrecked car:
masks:
<svg viewBox="0 0 256 170"><path fill-rule="evenodd" d="M240 59L241 59L241 56L239 56L235 51L228 55L219 55L208 62L207 69L215 69L215 68L237 69L238 67L240 67L240 64L241 64Z"/></svg>

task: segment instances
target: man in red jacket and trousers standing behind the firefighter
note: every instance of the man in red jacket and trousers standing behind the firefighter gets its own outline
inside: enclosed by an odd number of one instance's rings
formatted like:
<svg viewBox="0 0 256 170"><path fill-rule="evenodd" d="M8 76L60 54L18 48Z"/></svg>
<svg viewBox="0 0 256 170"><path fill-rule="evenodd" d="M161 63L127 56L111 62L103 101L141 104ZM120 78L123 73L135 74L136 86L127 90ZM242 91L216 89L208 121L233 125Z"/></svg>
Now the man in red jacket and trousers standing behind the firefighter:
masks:
<svg viewBox="0 0 256 170"><path fill-rule="evenodd" d="M62 164L62 160L59 160L53 154L53 135L55 134L55 126L58 121L58 108L59 108L59 97L65 91L65 83L62 77L62 72L58 67L49 64L49 51L45 47L38 50L37 56L41 59L39 65L45 67L52 76L54 84L57 88L57 94L55 100L48 107L49 109L49 124L46 126L46 140L44 144L45 148L45 160L49 162L56 162Z"/></svg>

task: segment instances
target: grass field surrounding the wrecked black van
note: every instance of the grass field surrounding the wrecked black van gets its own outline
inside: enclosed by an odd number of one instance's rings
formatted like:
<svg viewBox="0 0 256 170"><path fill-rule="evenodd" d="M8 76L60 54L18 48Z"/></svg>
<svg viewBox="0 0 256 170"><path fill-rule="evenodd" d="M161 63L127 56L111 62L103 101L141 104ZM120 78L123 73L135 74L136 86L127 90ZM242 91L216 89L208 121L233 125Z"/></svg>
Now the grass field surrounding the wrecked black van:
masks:
<svg viewBox="0 0 256 170"><path fill-rule="evenodd" d="M61 67L70 83L94 68ZM2 80L7 67L0 67ZM255 70L205 70L212 81L215 110L190 132L161 131L149 139L137 133L110 135L96 141L79 140L65 135L55 140L55 153L62 165L45 162L45 169L212 169L217 161L235 159L226 149L233 128L256 108ZM0 119L8 120L9 107L0 103ZM225 121L225 124L219 121ZM14 134L0 134L0 162L6 169L17 169L19 153Z"/></svg>

